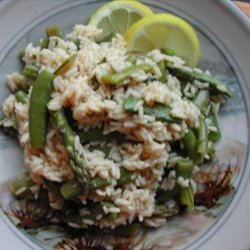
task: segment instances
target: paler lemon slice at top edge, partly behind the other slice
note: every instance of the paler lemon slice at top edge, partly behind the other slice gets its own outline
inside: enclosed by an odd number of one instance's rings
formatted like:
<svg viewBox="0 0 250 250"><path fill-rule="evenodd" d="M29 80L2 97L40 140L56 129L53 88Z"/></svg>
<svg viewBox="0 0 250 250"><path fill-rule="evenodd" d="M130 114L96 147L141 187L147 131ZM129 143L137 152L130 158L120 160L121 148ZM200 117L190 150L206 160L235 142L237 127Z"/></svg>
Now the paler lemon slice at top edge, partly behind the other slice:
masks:
<svg viewBox="0 0 250 250"><path fill-rule="evenodd" d="M112 1L98 9L89 24L102 29L104 35L124 34L132 24L152 15L153 12L147 6L137 1Z"/></svg>

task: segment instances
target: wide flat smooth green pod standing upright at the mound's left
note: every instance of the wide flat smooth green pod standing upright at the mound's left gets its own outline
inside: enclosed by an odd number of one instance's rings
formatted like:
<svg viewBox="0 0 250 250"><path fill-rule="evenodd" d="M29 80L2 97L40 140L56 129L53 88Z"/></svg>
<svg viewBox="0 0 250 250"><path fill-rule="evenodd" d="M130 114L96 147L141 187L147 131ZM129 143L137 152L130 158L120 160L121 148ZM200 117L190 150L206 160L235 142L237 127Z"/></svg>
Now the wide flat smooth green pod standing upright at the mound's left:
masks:
<svg viewBox="0 0 250 250"><path fill-rule="evenodd" d="M54 76L43 70L34 82L29 106L29 134L33 148L45 145L47 104L52 92Z"/></svg>

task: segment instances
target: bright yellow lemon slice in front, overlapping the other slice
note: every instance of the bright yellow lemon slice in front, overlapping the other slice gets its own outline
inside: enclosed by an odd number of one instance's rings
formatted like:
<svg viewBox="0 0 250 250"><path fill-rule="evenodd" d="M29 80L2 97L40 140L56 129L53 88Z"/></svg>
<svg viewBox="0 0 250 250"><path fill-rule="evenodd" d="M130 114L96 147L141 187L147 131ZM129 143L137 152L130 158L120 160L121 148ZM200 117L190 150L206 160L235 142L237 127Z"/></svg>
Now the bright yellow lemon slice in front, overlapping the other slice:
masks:
<svg viewBox="0 0 250 250"><path fill-rule="evenodd" d="M200 43L193 28L183 19L171 14L145 17L125 33L129 51L148 52L171 48L175 54L196 66L200 57Z"/></svg>

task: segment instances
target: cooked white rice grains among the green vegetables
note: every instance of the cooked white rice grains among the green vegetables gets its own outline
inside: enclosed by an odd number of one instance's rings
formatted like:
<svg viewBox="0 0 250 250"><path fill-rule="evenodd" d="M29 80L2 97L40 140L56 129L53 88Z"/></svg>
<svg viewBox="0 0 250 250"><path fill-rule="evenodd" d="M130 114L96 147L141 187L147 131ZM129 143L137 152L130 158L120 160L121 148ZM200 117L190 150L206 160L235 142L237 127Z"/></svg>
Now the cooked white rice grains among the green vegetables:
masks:
<svg viewBox="0 0 250 250"><path fill-rule="evenodd" d="M169 74L166 84L157 80L145 83L149 76L142 70L135 72L129 80L120 85L113 87L106 85L102 82L103 75L111 70L120 71L131 66L131 63L126 61L127 50L123 37L118 35L111 42L97 44L95 38L101 32L91 26L75 25L73 32L68 34L67 38L80 40L79 51L73 42L51 37L48 49L29 44L23 59L28 64L37 65L40 70L47 69L53 72L70 55L77 53L77 59L71 69L64 76L57 76L54 79L54 89L48 109L55 111L71 107L73 117L80 127L86 129L104 124L104 134L118 131L133 141L133 143L126 141L120 145L111 143L111 151L106 157L101 151L90 151L88 146L81 145L78 136L75 137L75 148L84 157L90 176L99 176L111 181L110 185L95 190L88 198L94 201L112 201L116 207L104 207L105 213L119 213L119 217L112 222L98 218L97 221L85 219L83 223L114 228L116 225L124 225L138 218L150 226L161 225L165 223L165 219L149 218L155 208L156 190L167 166L171 151L170 143L182 138L188 125L197 127L201 116L200 110L186 97L194 97L198 89L207 85L198 81L187 84L184 90L185 97L181 93L180 81L175 76ZM180 58L164 55L160 50L141 56L137 64L151 64L156 74L160 76L157 62L163 59L183 67L186 71L191 70L184 66ZM199 69L195 71L200 72ZM94 87L94 77L99 83L98 88ZM22 75L13 73L7 78L10 89L14 91L20 85ZM123 99L130 95L142 100L134 108L134 111L138 111L138 115L130 115L123 110ZM154 103L170 105L172 116L182 119L182 123L169 124L146 115L143 104L152 106ZM218 111L216 104L212 108ZM43 185L44 178L55 182L73 179L74 173L69 164L67 151L59 132L52 125L49 127L46 146L39 150L31 147L28 110L29 100L27 104L17 103L14 95L10 95L3 104L6 123L11 123L12 114L17 116L19 140L24 148L25 165L32 179L38 186ZM207 124L209 130L215 130L209 126L209 120ZM169 165L174 165L173 158L171 162ZM132 182L117 187L121 167L133 172ZM175 171L171 171L161 182L161 188L171 190L176 182L183 187L189 185L189 180L182 177L176 179ZM191 184L195 185L194 182ZM57 197L50 194L49 198L51 206L60 209L62 204ZM87 197L83 195L80 198L84 204ZM74 224L74 226L79 225Z"/></svg>

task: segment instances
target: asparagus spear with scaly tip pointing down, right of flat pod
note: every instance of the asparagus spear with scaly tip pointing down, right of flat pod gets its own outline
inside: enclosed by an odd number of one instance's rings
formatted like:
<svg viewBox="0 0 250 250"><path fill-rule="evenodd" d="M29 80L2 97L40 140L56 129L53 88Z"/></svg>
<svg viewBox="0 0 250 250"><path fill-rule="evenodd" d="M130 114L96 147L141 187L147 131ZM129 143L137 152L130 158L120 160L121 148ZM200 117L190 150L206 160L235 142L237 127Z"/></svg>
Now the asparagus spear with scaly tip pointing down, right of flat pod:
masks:
<svg viewBox="0 0 250 250"><path fill-rule="evenodd" d="M68 124L65 114L63 110L59 110L51 112L51 116L55 127L60 130L63 137L69 155L71 168L73 169L77 180L80 183L85 184L85 188L88 190L89 174L87 172L87 165L85 160L80 156L80 153L74 146L74 133Z"/></svg>

